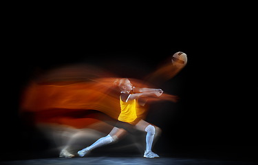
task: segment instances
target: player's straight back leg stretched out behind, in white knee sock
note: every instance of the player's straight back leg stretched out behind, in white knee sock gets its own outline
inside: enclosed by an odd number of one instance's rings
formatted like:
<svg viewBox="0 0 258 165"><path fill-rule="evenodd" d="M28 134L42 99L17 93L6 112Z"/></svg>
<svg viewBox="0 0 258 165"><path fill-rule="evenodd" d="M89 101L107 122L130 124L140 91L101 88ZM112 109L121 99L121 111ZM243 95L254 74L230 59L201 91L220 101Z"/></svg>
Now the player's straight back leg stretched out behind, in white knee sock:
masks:
<svg viewBox="0 0 258 165"><path fill-rule="evenodd" d="M84 155L86 155L87 153L92 151L94 148L98 148L105 144L114 142L114 141L118 140L118 137L120 137L123 133L125 133L124 129L118 129L117 127L114 127L114 129L111 130L109 135L107 135L105 137L101 137L96 142L94 142L94 144L92 144L91 146L88 146L88 147L83 148L82 150L78 151L78 155L80 155L80 157L83 157Z"/></svg>

